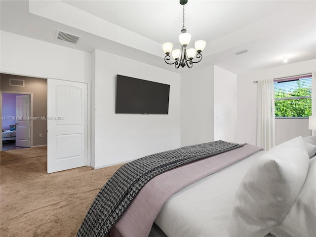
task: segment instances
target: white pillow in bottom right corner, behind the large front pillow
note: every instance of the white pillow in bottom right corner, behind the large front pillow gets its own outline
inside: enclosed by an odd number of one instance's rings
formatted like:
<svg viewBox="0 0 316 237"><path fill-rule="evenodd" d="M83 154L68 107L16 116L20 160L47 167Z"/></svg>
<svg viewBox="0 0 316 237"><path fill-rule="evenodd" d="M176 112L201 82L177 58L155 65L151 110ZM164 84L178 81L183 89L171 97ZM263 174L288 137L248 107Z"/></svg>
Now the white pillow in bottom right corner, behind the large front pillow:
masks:
<svg viewBox="0 0 316 237"><path fill-rule="evenodd" d="M316 157L310 159L305 183L294 205L271 233L275 236L316 236Z"/></svg>

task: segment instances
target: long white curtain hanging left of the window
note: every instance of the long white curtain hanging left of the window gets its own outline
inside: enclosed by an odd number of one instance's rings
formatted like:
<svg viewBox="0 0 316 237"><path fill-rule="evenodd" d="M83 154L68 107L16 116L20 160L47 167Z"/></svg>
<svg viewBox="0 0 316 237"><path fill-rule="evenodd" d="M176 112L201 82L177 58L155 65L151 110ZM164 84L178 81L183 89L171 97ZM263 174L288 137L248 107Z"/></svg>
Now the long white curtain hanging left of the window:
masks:
<svg viewBox="0 0 316 237"><path fill-rule="evenodd" d="M257 146L270 150L276 146L275 91L273 79L257 83Z"/></svg>

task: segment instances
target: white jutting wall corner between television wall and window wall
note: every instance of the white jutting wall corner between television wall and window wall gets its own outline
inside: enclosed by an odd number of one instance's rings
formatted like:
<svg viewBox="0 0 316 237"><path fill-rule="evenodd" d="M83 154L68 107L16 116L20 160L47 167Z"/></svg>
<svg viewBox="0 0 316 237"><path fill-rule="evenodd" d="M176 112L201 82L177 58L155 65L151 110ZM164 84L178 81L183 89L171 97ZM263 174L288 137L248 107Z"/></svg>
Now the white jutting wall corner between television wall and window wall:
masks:
<svg viewBox="0 0 316 237"><path fill-rule="evenodd" d="M236 141L237 75L212 65L181 75L181 146Z"/></svg>

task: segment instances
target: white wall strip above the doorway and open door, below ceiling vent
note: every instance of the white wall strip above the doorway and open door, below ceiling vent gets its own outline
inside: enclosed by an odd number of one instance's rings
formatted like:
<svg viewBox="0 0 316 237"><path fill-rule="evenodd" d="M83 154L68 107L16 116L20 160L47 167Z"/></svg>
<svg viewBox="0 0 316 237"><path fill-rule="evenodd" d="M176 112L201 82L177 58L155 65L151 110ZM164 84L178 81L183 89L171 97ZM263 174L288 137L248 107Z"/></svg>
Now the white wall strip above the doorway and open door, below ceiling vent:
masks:
<svg viewBox="0 0 316 237"><path fill-rule="evenodd" d="M1 73L90 81L91 54L1 31Z"/></svg>

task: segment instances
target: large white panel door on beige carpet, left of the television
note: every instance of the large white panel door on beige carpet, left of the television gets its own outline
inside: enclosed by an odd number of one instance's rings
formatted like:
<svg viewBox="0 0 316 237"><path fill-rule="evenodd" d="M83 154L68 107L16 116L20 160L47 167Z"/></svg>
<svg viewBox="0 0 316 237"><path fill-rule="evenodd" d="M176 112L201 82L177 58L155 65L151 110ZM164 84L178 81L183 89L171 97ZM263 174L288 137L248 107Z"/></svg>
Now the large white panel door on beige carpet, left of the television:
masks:
<svg viewBox="0 0 316 237"><path fill-rule="evenodd" d="M87 165L87 84L47 79L47 173Z"/></svg>

